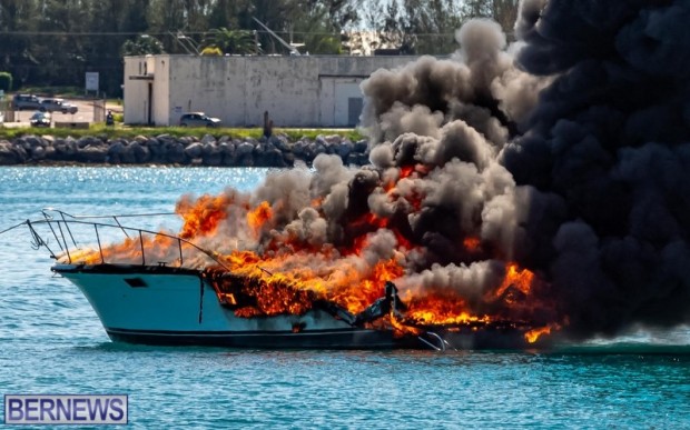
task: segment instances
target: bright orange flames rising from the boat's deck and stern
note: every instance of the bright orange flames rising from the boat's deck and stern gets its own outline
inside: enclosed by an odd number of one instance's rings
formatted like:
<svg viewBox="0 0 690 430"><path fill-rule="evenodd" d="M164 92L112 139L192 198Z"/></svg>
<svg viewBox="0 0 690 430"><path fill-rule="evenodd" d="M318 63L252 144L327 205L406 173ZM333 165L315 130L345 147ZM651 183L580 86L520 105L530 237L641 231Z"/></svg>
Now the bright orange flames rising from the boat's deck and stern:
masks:
<svg viewBox="0 0 690 430"><path fill-rule="evenodd" d="M400 200L400 181L426 173L408 167L381 184L390 201ZM414 213L424 196L415 190L406 199ZM326 300L357 314L383 297L386 281L394 281L403 286L401 297L407 308L397 320L387 317L385 326L400 332L416 332L418 327L477 330L507 323L526 326L531 330L525 339L533 342L558 329L530 321L532 310L542 304L532 297L538 279L514 261L491 257L494 266L502 266L503 274L474 297L442 284L416 286L414 279L420 270L415 258L427 250L414 234L398 227L394 216L371 211L343 216L337 226L345 234L338 243L305 236L305 229L316 230L315 226L327 218L327 197L313 196L308 200L313 219L305 218L302 210L302 216L288 217L280 224L286 201L252 203L248 196L235 192L197 199L187 196L176 208L183 218L178 236L204 252L185 241L144 234L101 251L82 250L70 257L89 264L144 261L207 268L219 300L244 318L302 314L312 309L315 300ZM304 222L296 223L296 219ZM471 258L486 258L477 236L465 236L460 247Z"/></svg>

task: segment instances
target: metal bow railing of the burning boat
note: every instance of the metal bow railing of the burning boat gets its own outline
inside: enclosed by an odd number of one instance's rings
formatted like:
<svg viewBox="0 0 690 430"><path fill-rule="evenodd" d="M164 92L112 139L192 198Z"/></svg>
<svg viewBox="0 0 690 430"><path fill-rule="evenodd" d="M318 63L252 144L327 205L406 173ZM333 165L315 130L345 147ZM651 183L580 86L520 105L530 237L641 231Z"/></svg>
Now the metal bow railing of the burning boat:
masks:
<svg viewBox="0 0 690 430"><path fill-rule="evenodd" d="M52 213L55 212L55 213ZM56 216L57 213L57 216ZM106 216L73 216L70 213L67 213L65 211L61 210L57 210L53 208L46 208L41 210L41 214L43 216L42 219L38 219L38 220L26 220L23 222L20 222L17 226L13 226L9 229L2 230L0 231L0 234L10 231L17 227L23 226L26 224L29 228L29 231L31 233L31 246L34 249L39 249L41 247L46 248L48 250L48 252L50 252L50 257L57 259L56 253L53 252L53 250L48 246L48 242L46 240L43 240L43 238L41 237L41 234L36 230L34 226L39 226L39 224L46 224L48 226L49 230L50 230L50 234L56 240L56 242L58 243L58 247L60 248L60 252L62 252L66 257L67 260L70 264L75 263L75 261L72 261L72 254L70 252L70 249L79 249L79 243L77 243L77 240L75 239L75 234L72 232L72 228L75 226L92 226L93 227L93 231L96 234L96 241L98 243L98 252L100 253L100 260L101 263L105 264L106 263L106 257L103 254L103 244L101 243L100 240L100 231L99 229L106 229L106 228L112 228L112 229L117 229L117 230L121 230L122 233L125 233L125 236L129 239L131 239L132 237L138 237L139 238L139 248L141 251L141 266L147 266L146 264L146 248L144 244L144 236L152 236L152 237L162 237L162 238L167 238L167 239L171 239L174 241L177 241L177 248L179 250L179 266L183 267L184 266L184 256L183 256L183 243L187 244L189 247L193 247L194 249L198 250L199 252L206 254L207 257L209 257L211 260L214 260L216 263L218 263L220 267L223 267L224 269L228 270L227 266L225 266L217 257L217 254L213 251L209 251L207 249L204 249L199 246L197 246L196 243L191 242L190 240L180 238L179 236L176 234L171 234L171 233L166 233L162 231L152 231L152 230L147 230L147 229L141 229L141 228L137 228L137 227L128 227L128 226L124 226L118 218L142 218L142 217L157 217L157 216L169 216L169 214L175 214L172 212L156 212L156 213L134 213L134 214L106 214ZM109 223L109 222L105 222L105 221L99 221L99 220L103 220L103 219L111 219L114 220L114 223ZM131 234L131 236L130 236ZM160 264L160 262L159 262Z"/></svg>

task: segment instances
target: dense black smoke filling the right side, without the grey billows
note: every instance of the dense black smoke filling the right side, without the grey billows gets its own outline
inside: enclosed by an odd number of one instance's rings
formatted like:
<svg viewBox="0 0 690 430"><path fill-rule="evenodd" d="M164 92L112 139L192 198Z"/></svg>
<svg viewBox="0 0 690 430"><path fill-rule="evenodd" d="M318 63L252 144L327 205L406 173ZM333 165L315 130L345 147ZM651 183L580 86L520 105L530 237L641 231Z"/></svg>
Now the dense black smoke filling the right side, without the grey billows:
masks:
<svg viewBox="0 0 690 430"><path fill-rule="evenodd" d="M573 331L687 322L690 2L552 0L536 20L533 3L516 61L558 77L502 163L566 208L533 263Z"/></svg>

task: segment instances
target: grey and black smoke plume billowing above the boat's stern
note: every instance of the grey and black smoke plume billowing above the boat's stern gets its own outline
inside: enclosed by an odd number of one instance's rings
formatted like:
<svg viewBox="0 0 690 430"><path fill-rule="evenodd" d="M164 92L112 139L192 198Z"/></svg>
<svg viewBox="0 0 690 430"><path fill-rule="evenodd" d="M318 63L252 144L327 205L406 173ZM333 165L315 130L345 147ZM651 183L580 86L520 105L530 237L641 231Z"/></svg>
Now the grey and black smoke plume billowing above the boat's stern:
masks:
<svg viewBox="0 0 690 430"><path fill-rule="evenodd" d="M451 59L365 81L372 162L424 170L396 184L418 208L372 199L424 247L401 283L477 297L515 259L571 336L690 321L689 22L687 0L524 0L516 43L472 21Z"/></svg>

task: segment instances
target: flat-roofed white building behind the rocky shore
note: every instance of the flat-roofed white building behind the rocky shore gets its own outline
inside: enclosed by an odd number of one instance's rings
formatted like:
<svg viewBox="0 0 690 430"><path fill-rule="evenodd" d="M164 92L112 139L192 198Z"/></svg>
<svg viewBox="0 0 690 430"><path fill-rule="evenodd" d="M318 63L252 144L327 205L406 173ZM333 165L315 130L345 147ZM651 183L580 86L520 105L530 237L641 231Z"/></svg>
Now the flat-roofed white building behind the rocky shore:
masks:
<svg viewBox="0 0 690 430"><path fill-rule="evenodd" d="M353 127L362 112L359 83L374 71L416 57L125 58L125 123L177 124L204 111L229 127Z"/></svg>

